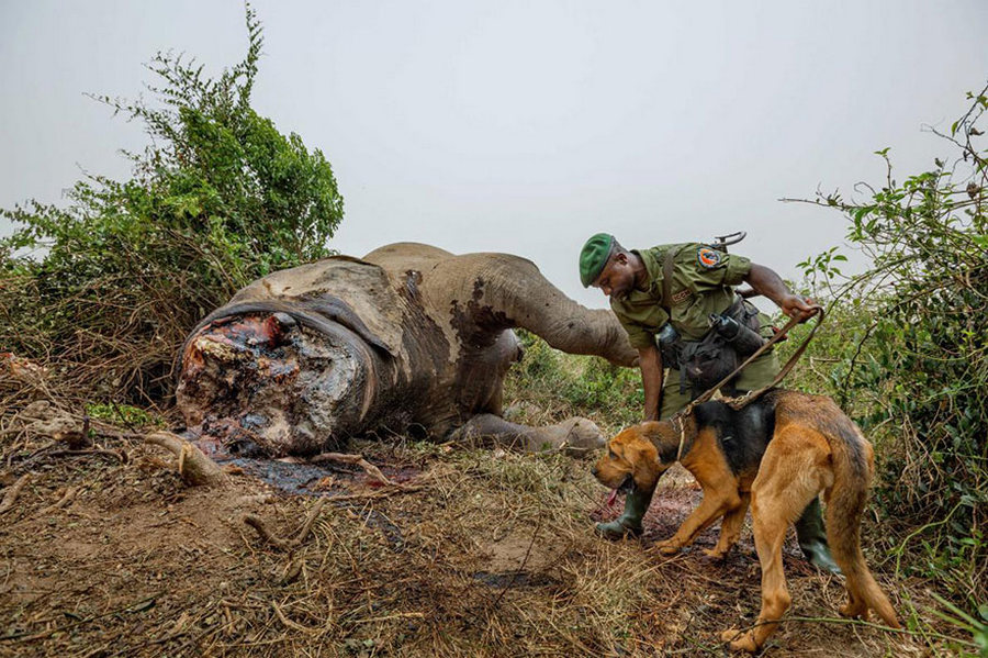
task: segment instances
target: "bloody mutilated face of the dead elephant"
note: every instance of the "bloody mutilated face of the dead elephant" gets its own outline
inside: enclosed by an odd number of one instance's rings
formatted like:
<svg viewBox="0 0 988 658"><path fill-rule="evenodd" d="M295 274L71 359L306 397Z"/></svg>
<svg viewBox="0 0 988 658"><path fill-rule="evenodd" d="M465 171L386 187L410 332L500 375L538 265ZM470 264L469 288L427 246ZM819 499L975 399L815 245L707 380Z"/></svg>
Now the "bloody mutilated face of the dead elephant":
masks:
<svg viewBox="0 0 988 658"><path fill-rule="evenodd" d="M234 454L304 455L364 428L378 390L372 348L304 313L212 321L187 343L177 391L187 425Z"/></svg>

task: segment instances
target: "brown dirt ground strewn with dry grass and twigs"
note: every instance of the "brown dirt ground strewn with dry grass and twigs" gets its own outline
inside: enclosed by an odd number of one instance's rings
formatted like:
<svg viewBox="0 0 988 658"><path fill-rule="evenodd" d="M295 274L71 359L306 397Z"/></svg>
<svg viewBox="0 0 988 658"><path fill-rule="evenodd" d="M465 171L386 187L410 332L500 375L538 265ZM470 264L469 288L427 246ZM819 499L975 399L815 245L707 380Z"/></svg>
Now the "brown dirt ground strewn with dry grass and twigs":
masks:
<svg viewBox="0 0 988 658"><path fill-rule="evenodd" d="M2 447L4 492L30 479L0 515L0 656L726 656L719 632L757 615L750 532L722 564L700 553L716 528L671 558L652 549L698 501L685 471L641 540L609 543L593 522L620 500L604 509L590 465L561 455L396 437L350 446L394 487L353 466L240 461L194 488L133 438L102 442L119 457ZM276 542L315 521L279 547L248 514ZM840 579L795 544L786 572L794 605L764 655L946 650L929 631L840 620ZM913 628L903 601L927 610L933 585L876 576Z"/></svg>

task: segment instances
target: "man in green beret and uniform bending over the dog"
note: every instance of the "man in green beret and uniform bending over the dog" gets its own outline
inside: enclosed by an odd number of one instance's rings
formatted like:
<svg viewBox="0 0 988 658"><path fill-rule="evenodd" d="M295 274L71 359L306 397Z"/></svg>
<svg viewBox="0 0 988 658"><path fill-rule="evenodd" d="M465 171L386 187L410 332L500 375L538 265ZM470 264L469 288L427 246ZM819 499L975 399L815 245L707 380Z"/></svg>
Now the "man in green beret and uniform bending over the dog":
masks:
<svg viewBox="0 0 988 658"><path fill-rule="evenodd" d="M666 272L669 282L665 281ZM687 386L678 364L663 364L656 334L674 328L683 345L703 339L711 327L711 315L728 313L743 322L755 313L742 302L733 287L742 282L767 297L789 317L809 319L812 306L794 294L777 274L748 258L719 252L696 243L660 245L628 250L613 235L598 233L580 253L580 279L584 288L594 286L610 298L610 308L638 349L644 388L644 420L667 419L704 393ZM664 299L665 295L670 299ZM762 335L771 336L768 317L759 316ZM663 377L663 368L669 376ZM779 371L778 358L768 350L749 364L725 389L738 394L767 386ZM625 498L625 512L596 529L607 538L641 533L641 518L651 503L651 493L632 492ZM820 502L813 501L796 522L799 547L810 562L839 572L827 546Z"/></svg>

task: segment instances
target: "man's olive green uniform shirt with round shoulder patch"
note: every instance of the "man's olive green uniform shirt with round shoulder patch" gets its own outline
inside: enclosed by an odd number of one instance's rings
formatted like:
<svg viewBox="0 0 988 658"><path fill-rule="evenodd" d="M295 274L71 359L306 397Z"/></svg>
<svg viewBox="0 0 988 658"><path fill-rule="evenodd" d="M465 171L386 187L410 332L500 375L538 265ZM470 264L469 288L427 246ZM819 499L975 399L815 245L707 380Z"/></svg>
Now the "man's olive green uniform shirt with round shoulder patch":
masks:
<svg viewBox="0 0 988 658"><path fill-rule="evenodd" d="M678 248L673 259L672 286L665 303L662 299L663 264L669 249ZM655 345L655 334L666 322L685 341L699 341L710 328L710 314L722 313L734 301L732 286L751 271L751 260L725 254L699 243L659 245L635 250L649 272L647 290L632 290L624 300L611 300L621 326L635 348ZM662 308L672 311L672 317Z"/></svg>

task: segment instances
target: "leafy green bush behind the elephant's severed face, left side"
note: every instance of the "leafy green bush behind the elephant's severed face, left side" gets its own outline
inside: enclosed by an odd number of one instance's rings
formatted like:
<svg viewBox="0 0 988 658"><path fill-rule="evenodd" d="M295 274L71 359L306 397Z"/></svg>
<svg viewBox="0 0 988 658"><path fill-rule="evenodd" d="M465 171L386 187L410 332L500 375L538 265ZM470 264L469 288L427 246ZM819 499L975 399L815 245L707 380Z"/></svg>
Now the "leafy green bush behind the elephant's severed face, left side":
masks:
<svg viewBox="0 0 988 658"><path fill-rule="evenodd" d="M243 62L211 79L181 56L148 69L157 101L98 100L144 123L133 178L87 176L65 208L3 216L0 345L58 364L90 397L160 400L187 332L238 288L324 257L343 218L333 169L250 107L261 26L247 8Z"/></svg>

